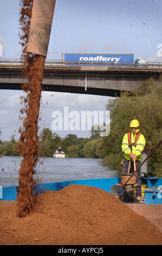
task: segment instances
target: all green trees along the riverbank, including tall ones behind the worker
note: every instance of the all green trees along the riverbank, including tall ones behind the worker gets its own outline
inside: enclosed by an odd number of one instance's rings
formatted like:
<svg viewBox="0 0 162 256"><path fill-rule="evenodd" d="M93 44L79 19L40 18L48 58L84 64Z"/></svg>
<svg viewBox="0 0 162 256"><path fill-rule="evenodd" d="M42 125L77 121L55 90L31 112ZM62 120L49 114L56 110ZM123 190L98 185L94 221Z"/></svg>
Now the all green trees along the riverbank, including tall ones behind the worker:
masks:
<svg viewBox="0 0 162 256"><path fill-rule="evenodd" d="M122 138L132 119L139 120L140 131L152 150L162 138L162 78L158 81L150 78L133 92L121 92L120 97L108 100L106 110L111 117L109 136L100 137L100 131L92 127L90 138L77 138L73 134L61 138L45 128L38 136L38 156L53 156L62 147L67 157L98 157L108 167L120 169ZM0 143L0 155L18 155L14 136L9 142ZM162 177L162 145L148 159L148 174Z"/></svg>

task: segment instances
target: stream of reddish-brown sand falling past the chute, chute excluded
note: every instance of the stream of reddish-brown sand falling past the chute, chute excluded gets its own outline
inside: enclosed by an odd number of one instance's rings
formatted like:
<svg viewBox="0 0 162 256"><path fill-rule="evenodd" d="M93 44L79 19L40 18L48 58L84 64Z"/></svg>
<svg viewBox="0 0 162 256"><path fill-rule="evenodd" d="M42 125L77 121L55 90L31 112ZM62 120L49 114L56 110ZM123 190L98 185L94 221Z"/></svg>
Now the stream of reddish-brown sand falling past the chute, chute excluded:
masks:
<svg viewBox="0 0 162 256"><path fill-rule="evenodd" d="M18 216L23 217L33 209L33 174L36 166L38 116L40 111L41 84L45 57L26 52L33 1L22 1L20 23L22 25L21 44L24 61L23 76L28 83L22 89L27 93L21 113L24 114L23 127L18 148L23 156L19 174L20 193L17 197ZM25 107L24 107L25 106Z"/></svg>

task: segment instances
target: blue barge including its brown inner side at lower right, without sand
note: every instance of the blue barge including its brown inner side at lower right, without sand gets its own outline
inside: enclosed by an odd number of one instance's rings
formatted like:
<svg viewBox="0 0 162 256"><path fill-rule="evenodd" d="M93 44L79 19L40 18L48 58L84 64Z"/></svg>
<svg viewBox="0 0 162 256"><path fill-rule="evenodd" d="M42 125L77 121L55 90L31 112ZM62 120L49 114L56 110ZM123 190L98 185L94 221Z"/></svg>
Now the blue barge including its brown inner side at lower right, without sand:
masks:
<svg viewBox="0 0 162 256"><path fill-rule="evenodd" d="M67 180L61 182L41 183L35 187L35 193L43 191L59 191L62 188L72 184L94 186L101 188L109 193L116 184L119 184L120 178L107 179L86 179L86 180ZM141 178L142 184L146 185L144 189L145 197L141 202L126 203L137 214L144 216L148 221L155 224L162 232L162 178ZM1 199L5 201L15 201L17 199L17 186L1 188ZM116 198L116 200L119 200Z"/></svg>

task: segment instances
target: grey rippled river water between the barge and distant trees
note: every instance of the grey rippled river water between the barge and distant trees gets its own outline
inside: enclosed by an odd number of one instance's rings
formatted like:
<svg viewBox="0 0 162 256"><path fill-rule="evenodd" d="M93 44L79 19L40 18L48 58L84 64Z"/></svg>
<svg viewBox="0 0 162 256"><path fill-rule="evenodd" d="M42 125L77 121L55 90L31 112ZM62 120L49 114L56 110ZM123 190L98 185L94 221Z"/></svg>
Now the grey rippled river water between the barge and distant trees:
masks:
<svg viewBox="0 0 162 256"><path fill-rule="evenodd" d="M3 156L0 158L0 185L18 185L18 172L22 157ZM118 170L111 170L101 159L40 158L36 166L38 182L58 182L80 179L100 179L119 177Z"/></svg>

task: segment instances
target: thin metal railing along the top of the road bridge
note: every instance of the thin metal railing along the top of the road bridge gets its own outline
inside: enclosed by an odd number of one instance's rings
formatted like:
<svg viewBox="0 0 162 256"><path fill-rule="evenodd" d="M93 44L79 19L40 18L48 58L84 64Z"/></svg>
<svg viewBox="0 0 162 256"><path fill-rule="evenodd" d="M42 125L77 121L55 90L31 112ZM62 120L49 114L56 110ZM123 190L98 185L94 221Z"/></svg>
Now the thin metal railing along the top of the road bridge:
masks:
<svg viewBox="0 0 162 256"><path fill-rule="evenodd" d="M0 58L0 65L13 65L13 66L23 66L23 60L21 59L3 59ZM45 68L47 66L109 66L109 67L128 67L128 68L162 68L162 62L81 62L80 60L54 60L46 59Z"/></svg>

